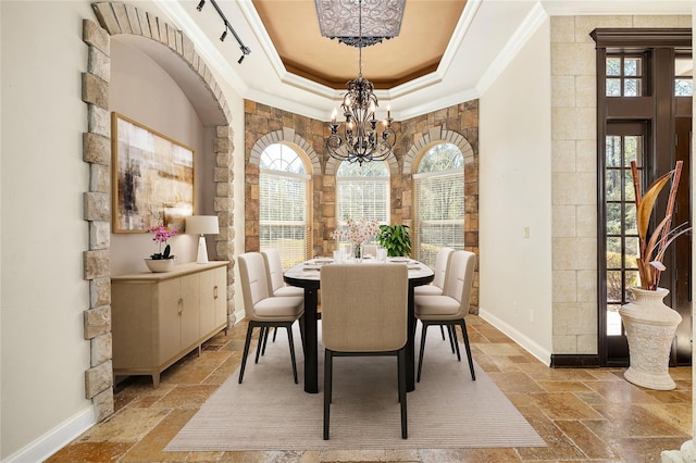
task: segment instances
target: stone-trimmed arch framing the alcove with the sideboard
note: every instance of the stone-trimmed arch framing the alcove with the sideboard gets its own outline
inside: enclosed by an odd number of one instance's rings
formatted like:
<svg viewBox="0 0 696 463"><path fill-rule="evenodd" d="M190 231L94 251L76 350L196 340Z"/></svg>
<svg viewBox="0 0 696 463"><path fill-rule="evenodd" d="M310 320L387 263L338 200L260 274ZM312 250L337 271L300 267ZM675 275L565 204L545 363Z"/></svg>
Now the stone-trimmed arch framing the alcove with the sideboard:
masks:
<svg viewBox="0 0 696 463"><path fill-rule="evenodd" d="M83 159L89 163L89 191L84 197L84 218L89 226L89 250L84 252L84 278L89 280L89 309L84 314L84 336L90 340L90 368L85 372L85 395L92 400L97 421L114 412L111 338L111 123L109 111L110 36L130 34L170 48L201 79L227 124L232 113L210 68L192 41L159 17L124 3L94 3L101 24L85 20L83 40L88 46L87 72L82 76L88 126L83 137ZM103 28L102 28L103 27ZM214 211L220 222L215 237L219 260L229 260L227 272L228 323L234 309L234 221L232 128L217 126L214 139Z"/></svg>

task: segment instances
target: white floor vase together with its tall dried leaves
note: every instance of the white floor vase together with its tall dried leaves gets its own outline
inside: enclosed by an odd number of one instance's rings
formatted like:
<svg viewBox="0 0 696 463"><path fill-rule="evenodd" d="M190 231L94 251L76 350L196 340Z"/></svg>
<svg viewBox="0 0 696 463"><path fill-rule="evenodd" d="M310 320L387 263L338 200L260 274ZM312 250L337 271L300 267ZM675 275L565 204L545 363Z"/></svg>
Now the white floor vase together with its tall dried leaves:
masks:
<svg viewBox="0 0 696 463"><path fill-rule="evenodd" d="M642 387L657 390L671 390L676 387L669 374L669 356L676 326L682 316L662 302L669 293L660 288L660 273L666 268L662 263L669 245L691 227L681 224L672 228L672 213L676 200L676 188L682 172L682 161L675 168L650 185L645 195L641 195L641 179L636 163L631 163L635 191L636 222L638 232L638 275L641 287L632 287L634 302L619 310L629 340L631 366L624 377ZM664 186L670 185L664 217L648 236L650 216L655 202Z"/></svg>

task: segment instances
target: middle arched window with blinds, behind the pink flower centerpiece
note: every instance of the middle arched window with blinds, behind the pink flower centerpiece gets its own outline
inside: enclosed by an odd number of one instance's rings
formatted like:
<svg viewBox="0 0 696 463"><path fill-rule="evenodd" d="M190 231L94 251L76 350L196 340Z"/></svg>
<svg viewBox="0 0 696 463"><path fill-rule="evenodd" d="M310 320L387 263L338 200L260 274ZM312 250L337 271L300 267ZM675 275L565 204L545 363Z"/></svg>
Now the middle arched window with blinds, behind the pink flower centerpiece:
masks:
<svg viewBox="0 0 696 463"><path fill-rule="evenodd" d="M338 226L346 225L347 217L389 223L389 167L386 162L340 163L336 171Z"/></svg>

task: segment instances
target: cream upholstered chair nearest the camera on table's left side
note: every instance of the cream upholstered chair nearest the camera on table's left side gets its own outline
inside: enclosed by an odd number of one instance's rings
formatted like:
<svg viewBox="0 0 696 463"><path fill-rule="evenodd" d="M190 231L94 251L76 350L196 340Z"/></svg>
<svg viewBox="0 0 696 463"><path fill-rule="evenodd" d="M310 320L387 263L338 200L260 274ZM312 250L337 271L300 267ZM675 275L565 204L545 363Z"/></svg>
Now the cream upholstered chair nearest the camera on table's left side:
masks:
<svg viewBox="0 0 696 463"><path fill-rule="evenodd" d="M293 324L304 314L304 298L300 296L271 295L265 262L260 252L247 252L239 255L239 279L241 280L244 310L249 324L244 345L241 367L239 368L239 384L241 384L244 379L249 345L251 343L251 334L253 328L257 327L260 328L259 343L257 346L257 363L259 362L262 340L268 336L269 328L284 327L287 330L290 360L293 362L293 376L295 384L297 384ZM302 324L300 323L300 330L301 328Z"/></svg>

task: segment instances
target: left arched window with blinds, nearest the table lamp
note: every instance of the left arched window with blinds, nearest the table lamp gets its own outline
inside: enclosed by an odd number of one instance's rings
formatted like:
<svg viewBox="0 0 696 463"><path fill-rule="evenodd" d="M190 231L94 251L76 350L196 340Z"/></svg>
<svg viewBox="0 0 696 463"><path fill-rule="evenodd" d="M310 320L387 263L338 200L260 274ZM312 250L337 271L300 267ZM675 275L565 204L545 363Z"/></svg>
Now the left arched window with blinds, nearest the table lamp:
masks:
<svg viewBox="0 0 696 463"><path fill-rule="evenodd" d="M259 246L277 249L283 267L309 256L309 182L302 155L274 143L259 163Z"/></svg>

